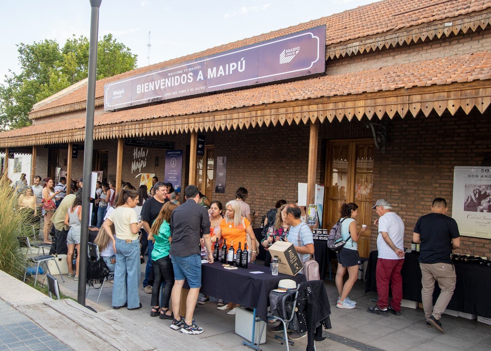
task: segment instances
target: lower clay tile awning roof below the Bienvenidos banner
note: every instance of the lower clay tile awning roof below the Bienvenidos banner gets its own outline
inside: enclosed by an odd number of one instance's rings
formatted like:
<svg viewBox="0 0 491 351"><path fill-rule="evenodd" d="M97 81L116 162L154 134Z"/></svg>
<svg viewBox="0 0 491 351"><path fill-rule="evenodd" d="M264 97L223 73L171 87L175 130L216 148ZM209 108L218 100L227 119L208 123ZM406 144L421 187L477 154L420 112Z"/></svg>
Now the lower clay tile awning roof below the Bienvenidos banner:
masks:
<svg viewBox="0 0 491 351"><path fill-rule="evenodd" d="M491 79L491 51L418 61L359 72L229 91L165 104L95 115L94 124L107 125L156 117L190 115L323 96L360 94L397 88L444 85ZM0 139L82 128L85 118L40 123L0 133Z"/></svg>

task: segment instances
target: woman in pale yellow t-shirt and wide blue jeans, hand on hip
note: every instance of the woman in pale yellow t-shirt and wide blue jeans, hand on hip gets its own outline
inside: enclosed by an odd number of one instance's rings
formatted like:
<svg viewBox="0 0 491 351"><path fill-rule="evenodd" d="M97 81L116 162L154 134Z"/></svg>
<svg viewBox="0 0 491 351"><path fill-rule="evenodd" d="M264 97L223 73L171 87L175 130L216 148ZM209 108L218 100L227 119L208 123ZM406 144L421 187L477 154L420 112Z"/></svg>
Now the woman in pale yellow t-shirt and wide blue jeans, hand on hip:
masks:
<svg viewBox="0 0 491 351"><path fill-rule="evenodd" d="M114 210L104 221L103 228L112 240L116 253L112 308L128 306L129 310L141 308L138 295L140 277L140 243L138 232L142 223L136 219L135 206L138 193L135 190L121 190ZM114 224L114 235L111 225ZM115 237L114 237L115 236Z"/></svg>

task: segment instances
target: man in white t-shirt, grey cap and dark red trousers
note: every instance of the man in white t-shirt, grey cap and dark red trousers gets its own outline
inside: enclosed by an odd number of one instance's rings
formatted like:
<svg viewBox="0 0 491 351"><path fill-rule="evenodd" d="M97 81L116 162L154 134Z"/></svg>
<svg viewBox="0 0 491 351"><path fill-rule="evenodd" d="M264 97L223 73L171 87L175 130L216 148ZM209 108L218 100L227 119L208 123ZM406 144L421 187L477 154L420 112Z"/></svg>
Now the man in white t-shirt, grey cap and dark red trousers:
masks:
<svg viewBox="0 0 491 351"><path fill-rule="evenodd" d="M380 218L373 224L379 226L377 248L379 259L377 261L377 292L379 300L375 307L369 307L368 312L387 316L401 315L402 276L401 269L404 263L404 222L401 217L392 212L392 205L381 199L373 206ZM392 289L392 301L389 304L389 283Z"/></svg>

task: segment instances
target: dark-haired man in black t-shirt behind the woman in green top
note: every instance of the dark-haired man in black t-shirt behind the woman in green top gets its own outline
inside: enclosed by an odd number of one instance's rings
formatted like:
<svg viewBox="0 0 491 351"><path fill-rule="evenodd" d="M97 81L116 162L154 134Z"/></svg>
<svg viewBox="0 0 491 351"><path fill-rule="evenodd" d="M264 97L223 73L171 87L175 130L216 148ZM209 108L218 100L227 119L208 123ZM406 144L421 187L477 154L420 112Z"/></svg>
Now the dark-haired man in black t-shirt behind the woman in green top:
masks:
<svg viewBox="0 0 491 351"><path fill-rule="evenodd" d="M169 199L167 199L166 196L168 187L165 183L158 181L154 184L153 189L155 191L155 195L152 198L145 201L145 203L141 207L141 219L143 221L143 230L146 233L144 235L148 235L148 233L150 233L150 228L152 228L153 222L159 215L162 206L164 206L166 202L169 202ZM149 240L148 260L147 260L147 265L145 267L145 279L143 279L143 291L146 293L152 293L152 285L154 280L153 263L152 263L153 245L154 242L152 240Z"/></svg>

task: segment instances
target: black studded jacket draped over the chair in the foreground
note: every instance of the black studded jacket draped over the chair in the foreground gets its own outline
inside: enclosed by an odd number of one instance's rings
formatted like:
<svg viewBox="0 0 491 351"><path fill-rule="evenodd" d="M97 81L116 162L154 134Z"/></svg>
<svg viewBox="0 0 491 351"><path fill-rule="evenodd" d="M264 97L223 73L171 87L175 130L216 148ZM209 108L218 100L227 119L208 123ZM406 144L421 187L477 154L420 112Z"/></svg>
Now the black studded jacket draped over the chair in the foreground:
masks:
<svg viewBox="0 0 491 351"><path fill-rule="evenodd" d="M297 299L297 319L290 328L300 333L307 332L307 351L314 351L314 340L322 341L322 327L331 328L329 299L322 280L301 283Z"/></svg>

